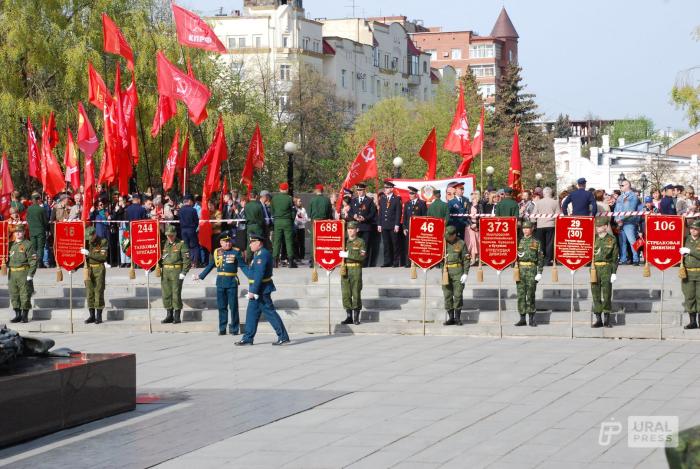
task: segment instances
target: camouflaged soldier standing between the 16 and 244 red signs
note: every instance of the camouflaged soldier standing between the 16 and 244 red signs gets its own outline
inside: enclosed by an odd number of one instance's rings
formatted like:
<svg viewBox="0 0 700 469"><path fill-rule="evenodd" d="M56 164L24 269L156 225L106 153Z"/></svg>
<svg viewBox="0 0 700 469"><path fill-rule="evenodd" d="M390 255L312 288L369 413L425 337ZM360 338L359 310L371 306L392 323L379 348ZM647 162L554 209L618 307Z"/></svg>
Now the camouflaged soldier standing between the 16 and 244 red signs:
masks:
<svg viewBox="0 0 700 469"><path fill-rule="evenodd" d="M85 289L90 312L85 324L102 324L102 310L105 307L105 262L109 243L106 239L97 237L94 226L85 229L85 241L87 246L80 250L85 256Z"/></svg>

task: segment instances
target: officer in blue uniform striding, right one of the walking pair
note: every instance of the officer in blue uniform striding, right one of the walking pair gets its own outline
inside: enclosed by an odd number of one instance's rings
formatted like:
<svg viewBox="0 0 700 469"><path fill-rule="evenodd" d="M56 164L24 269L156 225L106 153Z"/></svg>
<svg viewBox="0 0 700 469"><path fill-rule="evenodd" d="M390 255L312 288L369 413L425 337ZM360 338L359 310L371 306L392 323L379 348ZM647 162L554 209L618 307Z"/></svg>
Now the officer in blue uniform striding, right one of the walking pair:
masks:
<svg viewBox="0 0 700 469"><path fill-rule="evenodd" d="M253 252L250 266L242 261L240 251L237 253L241 271L248 277L248 309L245 314L245 334L236 345L253 345L258 321L263 313L277 333L277 342L272 345L289 343L287 329L272 304L272 292L275 291L275 284L272 283L272 254L263 247L263 240L264 237L257 233L250 235L250 250Z"/></svg>

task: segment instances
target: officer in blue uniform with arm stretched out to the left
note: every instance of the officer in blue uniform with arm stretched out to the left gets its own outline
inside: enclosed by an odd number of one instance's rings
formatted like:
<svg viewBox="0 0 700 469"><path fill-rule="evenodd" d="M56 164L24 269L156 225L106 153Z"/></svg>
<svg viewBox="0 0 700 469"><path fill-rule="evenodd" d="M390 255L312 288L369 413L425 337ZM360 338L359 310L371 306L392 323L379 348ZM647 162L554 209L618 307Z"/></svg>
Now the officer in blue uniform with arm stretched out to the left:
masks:
<svg viewBox="0 0 700 469"><path fill-rule="evenodd" d="M229 333L238 335L241 323L238 317L238 259L240 249L234 248L231 237L224 234L220 239L220 248L214 250L209 258L209 265L195 277L204 280L216 267L216 305L219 307L219 335L226 335L228 312L231 311Z"/></svg>

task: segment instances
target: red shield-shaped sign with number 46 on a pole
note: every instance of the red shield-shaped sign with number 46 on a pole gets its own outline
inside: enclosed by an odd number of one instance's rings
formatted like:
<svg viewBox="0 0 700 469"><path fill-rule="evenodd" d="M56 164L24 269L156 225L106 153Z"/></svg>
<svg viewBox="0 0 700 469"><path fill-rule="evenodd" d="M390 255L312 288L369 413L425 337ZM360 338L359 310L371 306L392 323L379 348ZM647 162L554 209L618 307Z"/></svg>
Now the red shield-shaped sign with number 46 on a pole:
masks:
<svg viewBox="0 0 700 469"><path fill-rule="evenodd" d="M445 256L445 219L412 217L408 226L408 258L429 269Z"/></svg>

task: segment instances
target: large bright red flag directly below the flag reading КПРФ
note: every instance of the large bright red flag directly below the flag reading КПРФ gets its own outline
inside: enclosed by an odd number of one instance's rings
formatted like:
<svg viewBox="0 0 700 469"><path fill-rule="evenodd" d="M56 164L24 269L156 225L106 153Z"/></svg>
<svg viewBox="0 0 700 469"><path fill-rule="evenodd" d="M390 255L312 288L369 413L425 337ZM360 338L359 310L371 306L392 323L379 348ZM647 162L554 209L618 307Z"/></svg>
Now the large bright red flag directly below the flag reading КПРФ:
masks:
<svg viewBox="0 0 700 469"><path fill-rule="evenodd" d="M191 116L201 116L211 97L209 88L168 62L161 51L158 51L157 69L158 93L185 103Z"/></svg>

